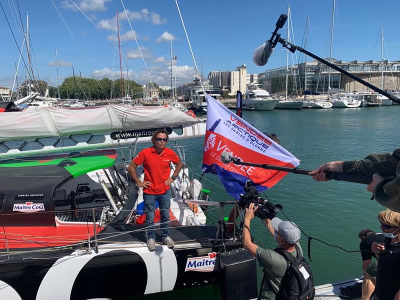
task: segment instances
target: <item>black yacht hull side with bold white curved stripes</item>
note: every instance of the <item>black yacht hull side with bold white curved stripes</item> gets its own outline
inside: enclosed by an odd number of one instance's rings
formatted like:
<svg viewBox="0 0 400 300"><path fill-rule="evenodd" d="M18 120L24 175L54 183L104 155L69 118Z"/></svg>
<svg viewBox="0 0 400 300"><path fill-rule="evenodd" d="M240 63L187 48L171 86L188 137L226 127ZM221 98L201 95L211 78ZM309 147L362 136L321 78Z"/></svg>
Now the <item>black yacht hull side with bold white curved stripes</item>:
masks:
<svg viewBox="0 0 400 300"><path fill-rule="evenodd" d="M241 241L225 241L225 246L227 251L239 249ZM220 283L219 246L190 242L175 247L157 244L150 252L142 242L111 242L97 252L93 248L50 250L3 260L1 298L134 298Z"/></svg>

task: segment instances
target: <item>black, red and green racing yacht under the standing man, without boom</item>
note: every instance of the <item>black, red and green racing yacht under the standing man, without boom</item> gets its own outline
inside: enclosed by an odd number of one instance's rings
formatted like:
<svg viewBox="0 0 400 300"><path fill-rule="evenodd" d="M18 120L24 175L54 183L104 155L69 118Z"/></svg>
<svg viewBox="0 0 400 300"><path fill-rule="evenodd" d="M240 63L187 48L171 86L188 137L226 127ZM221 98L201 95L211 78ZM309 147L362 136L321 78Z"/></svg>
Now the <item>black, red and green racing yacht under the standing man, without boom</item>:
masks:
<svg viewBox="0 0 400 300"><path fill-rule="evenodd" d="M115 167L115 158L116 151L107 149L0 164L1 298L127 298L223 280L218 253L240 252L241 239L205 225L197 204L219 203L201 200L199 182L190 182L182 169L170 186L176 245L149 251L140 190ZM115 274L118 288L111 284Z"/></svg>

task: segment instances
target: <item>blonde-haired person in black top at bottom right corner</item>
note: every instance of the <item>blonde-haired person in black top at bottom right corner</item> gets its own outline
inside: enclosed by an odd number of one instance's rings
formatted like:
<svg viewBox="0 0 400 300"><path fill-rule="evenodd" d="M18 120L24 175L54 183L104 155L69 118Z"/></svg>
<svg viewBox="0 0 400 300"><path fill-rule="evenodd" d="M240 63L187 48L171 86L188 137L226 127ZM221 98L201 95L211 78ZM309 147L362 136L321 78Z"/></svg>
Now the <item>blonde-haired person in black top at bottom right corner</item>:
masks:
<svg viewBox="0 0 400 300"><path fill-rule="evenodd" d="M386 209L377 218L385 240L371 246L378 257L375 295L379 299L400 300L400 212Z"/></svg>

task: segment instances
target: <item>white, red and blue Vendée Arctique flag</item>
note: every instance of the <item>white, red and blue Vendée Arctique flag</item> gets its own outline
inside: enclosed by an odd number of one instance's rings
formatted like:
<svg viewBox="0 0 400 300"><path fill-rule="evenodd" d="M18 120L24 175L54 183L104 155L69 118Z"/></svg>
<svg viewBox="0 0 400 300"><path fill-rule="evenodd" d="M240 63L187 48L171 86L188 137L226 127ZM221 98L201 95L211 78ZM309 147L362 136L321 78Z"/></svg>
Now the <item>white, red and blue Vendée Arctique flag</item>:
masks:
<svg viewBox="0 0 400 300"><path fill-rule="evenodd" d="M252 163L295 167L299 160L229 109L206 95L207 124L204 139L203 172L218 174L228 194L236 199L243 193L245 182L251 179L258 191L273 186L287 172L259 167L223 163L225 151L233 157Z"/></svg>

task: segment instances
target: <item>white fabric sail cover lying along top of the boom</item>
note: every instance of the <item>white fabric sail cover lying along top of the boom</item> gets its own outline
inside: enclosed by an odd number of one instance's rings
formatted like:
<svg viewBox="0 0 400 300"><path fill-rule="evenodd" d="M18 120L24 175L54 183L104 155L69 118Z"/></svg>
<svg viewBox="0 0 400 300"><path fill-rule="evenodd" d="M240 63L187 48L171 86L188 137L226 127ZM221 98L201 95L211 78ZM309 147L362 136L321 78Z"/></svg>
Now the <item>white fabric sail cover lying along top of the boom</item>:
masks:
<svg viewBox="0 0 400 300"><path fill-rule="evenodd" d="M171 106L110 104L0 113L0 142L200 122Z"/></svg>

